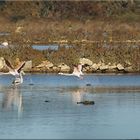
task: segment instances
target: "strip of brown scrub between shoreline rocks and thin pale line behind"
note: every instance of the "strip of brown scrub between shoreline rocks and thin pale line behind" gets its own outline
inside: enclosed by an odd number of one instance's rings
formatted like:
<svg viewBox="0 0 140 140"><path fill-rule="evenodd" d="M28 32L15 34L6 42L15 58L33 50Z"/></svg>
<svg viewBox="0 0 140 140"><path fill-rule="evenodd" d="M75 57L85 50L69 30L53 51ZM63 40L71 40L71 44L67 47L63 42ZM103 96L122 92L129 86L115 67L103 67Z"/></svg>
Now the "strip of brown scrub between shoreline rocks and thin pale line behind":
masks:
<svg viewBox="0 0 140 140"><path fill-rule="evenodd" d="M93 63L104 63L106 65L122 64L124 67L131 66L133 71L140 72L140 48L136 43L92 43L92 44L69 44L60 45L58 50L34 50L30 45L20 44L0 49L0 56L8 58L16 65L17 58L20 61L32 60L33 67L48 60L54 65L65 63L72 68L78 64L80 58L88 58ZM18 61L19 61L18 60Z"/></svg>

